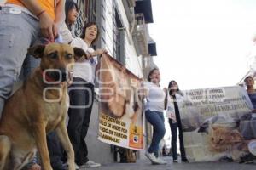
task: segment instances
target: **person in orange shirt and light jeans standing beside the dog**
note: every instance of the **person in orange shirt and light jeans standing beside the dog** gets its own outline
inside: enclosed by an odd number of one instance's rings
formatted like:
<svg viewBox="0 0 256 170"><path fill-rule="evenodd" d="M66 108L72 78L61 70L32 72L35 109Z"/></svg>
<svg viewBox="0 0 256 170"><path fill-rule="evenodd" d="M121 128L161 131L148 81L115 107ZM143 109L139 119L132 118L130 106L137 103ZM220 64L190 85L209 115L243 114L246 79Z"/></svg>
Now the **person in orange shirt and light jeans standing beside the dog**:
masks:
<svg viewBox="0 0 256 170"><path fill-rule="evenodd" d="M65 0L7 0L0 10L0 118L26 58L40 37L54 42L65 20Z"/></svg>

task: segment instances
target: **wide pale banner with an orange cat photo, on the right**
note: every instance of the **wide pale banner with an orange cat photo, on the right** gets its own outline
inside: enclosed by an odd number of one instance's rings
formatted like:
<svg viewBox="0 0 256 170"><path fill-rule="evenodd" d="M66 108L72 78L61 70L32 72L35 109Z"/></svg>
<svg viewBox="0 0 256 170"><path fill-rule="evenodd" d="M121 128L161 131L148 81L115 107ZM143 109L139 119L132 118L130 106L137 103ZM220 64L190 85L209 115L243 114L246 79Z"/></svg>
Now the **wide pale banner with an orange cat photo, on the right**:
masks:
<svg viewBox="0 0 256 170"><path fill-rule="evenodd" d="M205 88L177 95L189 161L241 161L256 138L253 105L241 87Z"/></svg>

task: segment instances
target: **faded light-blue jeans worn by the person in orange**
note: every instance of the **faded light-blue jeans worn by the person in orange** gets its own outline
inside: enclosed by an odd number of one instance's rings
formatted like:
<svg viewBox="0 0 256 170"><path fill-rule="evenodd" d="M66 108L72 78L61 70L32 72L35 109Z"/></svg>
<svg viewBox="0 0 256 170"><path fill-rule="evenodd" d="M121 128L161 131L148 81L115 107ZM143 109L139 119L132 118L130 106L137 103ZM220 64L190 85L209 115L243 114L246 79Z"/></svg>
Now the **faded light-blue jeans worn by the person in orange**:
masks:
<svg viewBox="0 0 256 170"><path fill-rule="evenodd" d="M26 50L38 39L39 23L31 15L3 7L0 10L0 111L18 80ZM18 12L17 12L18 11ZM2 108L1 108L2 107ZM2 113L0 112L0 117Z"/></svg>

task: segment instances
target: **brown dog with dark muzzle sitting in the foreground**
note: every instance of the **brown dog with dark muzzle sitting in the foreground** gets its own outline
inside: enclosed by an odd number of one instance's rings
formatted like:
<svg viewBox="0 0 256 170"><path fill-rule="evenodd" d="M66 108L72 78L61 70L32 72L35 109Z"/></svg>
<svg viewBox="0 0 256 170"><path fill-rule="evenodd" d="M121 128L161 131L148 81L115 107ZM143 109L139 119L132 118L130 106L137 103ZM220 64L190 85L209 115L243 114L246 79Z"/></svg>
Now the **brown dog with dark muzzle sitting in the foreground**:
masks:
<svg viewBox="0 0 256 170"><path fill-rule="evenodd" d="M74 170L73 147L67 135L67 80L75 59L85 55L80 48L51 43L28 49L41 58L40 66L7 101L0 120L0 170L20 170L38 149L44 170L52 170L46 134L55 130L67 163Z"/></svg>

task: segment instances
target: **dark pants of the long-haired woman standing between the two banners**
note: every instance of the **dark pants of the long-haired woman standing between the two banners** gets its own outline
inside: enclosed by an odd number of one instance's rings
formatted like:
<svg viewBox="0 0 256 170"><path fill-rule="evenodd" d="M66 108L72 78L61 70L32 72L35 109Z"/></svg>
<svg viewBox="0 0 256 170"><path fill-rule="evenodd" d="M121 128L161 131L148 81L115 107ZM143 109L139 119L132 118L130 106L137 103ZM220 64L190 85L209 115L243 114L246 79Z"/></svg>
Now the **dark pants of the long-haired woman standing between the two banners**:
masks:
<svg viewBox="0 0 256 170"><path fill-rule="evenodd" d="M172 157L173 159L177 159L177 128L178 128L178 138L179 138L179 147L181 152L182 160L186 159L185 149L184 149L184 143L183 143L183 131L181 129L181 126L178 126L177 122L173 122L172 119L169 119L169 124L171 127L171 133L172 133Z"/></svg>

